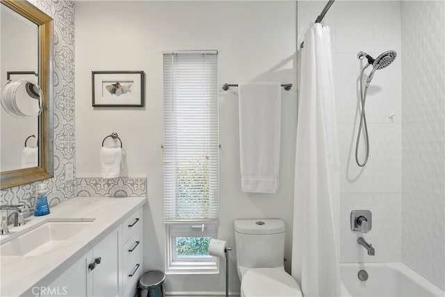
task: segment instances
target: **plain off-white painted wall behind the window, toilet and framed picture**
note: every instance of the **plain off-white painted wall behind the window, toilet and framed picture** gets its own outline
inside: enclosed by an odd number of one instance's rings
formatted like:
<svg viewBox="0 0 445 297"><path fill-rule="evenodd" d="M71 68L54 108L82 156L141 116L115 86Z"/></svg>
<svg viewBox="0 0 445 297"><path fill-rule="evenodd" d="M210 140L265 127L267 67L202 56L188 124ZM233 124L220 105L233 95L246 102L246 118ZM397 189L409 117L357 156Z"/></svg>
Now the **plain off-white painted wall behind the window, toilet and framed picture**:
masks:
<svg viewBox="0 0 445 297"><path fill-rule="evenodd" d="M127 153L122 176L148 177L145 271L164 270L162 52L218 49L218 85L280 81L296 85L295 1L199 1L76 3L76 174L99 177L104 136L118 132ZM143 108L92 108L92 70L144 70ZM282 92L280 188L275 195L241 191L237 89L219 91L220 227L234 247L233 221L282 218L290 269L296 88ZM230 291L239 292L235 251ZM220 275L168 275L167 291L224 291Z"/></svg>

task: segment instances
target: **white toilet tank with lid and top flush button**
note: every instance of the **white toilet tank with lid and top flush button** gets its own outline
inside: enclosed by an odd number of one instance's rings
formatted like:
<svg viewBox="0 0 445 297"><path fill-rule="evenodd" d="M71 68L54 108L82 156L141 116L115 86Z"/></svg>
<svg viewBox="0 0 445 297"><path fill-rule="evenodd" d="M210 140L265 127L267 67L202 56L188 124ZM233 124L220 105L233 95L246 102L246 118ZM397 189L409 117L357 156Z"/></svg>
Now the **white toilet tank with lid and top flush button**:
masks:
<svg viewBox="0 0 445 297"><path fill-rule="evenodd" d="M236 264L245 268L274 268L284 262L282 220L235 220ZM239 269L238 269L239 271Z"/></svg>

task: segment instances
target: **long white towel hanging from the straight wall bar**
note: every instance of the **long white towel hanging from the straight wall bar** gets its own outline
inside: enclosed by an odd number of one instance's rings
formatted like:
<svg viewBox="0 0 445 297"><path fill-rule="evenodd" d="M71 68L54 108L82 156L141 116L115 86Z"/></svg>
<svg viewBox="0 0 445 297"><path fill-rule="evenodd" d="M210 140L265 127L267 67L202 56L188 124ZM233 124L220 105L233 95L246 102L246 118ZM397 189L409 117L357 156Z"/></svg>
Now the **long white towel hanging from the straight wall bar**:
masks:
<svg viewBox="0 0 445 297"><path fill-rule="evenodd" d="M280 170L281 85L240 83L239 136L244 192L276 193Z"/></svg>

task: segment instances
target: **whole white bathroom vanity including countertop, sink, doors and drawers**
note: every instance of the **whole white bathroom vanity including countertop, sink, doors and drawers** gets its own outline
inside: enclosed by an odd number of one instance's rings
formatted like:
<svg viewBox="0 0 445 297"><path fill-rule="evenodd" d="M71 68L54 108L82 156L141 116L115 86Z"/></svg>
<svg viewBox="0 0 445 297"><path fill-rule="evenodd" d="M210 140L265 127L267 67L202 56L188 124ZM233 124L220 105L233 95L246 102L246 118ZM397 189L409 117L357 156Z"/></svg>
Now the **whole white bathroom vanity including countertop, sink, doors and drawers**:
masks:
<svg viewBox="0 0 445 297"><path fill-rule="evenodd" d="M145 204L145 196L74 197L10 226L0 238L0 296L134 297Z"/></svg>

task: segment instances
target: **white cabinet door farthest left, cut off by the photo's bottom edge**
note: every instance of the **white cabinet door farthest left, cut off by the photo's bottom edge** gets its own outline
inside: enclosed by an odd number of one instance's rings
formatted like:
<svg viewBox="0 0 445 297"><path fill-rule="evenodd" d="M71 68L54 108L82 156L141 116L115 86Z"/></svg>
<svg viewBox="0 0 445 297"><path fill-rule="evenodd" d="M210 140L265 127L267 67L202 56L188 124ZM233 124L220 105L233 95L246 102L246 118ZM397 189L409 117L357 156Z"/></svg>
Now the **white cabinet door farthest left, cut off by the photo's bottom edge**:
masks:
<svg viewBox="0 0 445 297"><path fill-rule="evenodd" d="M40 289L41 296L87 296L88 295L88 268L87 262L91 258L91 251L83 255L70 268L62 273L48 287ZM43 292L42 290L46 292Z"/></svg>

